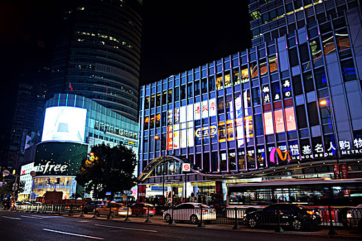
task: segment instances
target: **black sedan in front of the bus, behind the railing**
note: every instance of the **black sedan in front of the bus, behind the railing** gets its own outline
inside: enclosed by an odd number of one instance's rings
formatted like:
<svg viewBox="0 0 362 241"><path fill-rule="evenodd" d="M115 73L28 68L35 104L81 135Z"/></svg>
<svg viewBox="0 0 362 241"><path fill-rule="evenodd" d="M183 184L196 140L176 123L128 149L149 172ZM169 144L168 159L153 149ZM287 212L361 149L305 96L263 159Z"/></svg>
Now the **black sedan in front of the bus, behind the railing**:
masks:
<svg viewBox="0 0 362 241"><path fill-rule="evenodd" d="M319 213L301 205L292 205L290 203L273 204L245 214L245 223L251 228L276 226L279 219L281 226L288 226L294 230L316 227L321 224Z"/></svg>

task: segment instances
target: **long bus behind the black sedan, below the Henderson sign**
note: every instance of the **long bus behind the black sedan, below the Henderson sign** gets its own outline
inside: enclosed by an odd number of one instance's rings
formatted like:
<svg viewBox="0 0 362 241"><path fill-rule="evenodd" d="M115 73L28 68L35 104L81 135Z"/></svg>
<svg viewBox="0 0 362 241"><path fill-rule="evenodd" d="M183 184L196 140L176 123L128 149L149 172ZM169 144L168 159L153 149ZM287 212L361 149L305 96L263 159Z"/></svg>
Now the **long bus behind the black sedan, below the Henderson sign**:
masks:
<svg viewBox="0 0 362 241"><path fill-rule="evenodd" d="M285 178L228 185L230 207L261 208L290 202L311 208L362 204L362 178Z"/></svg>

